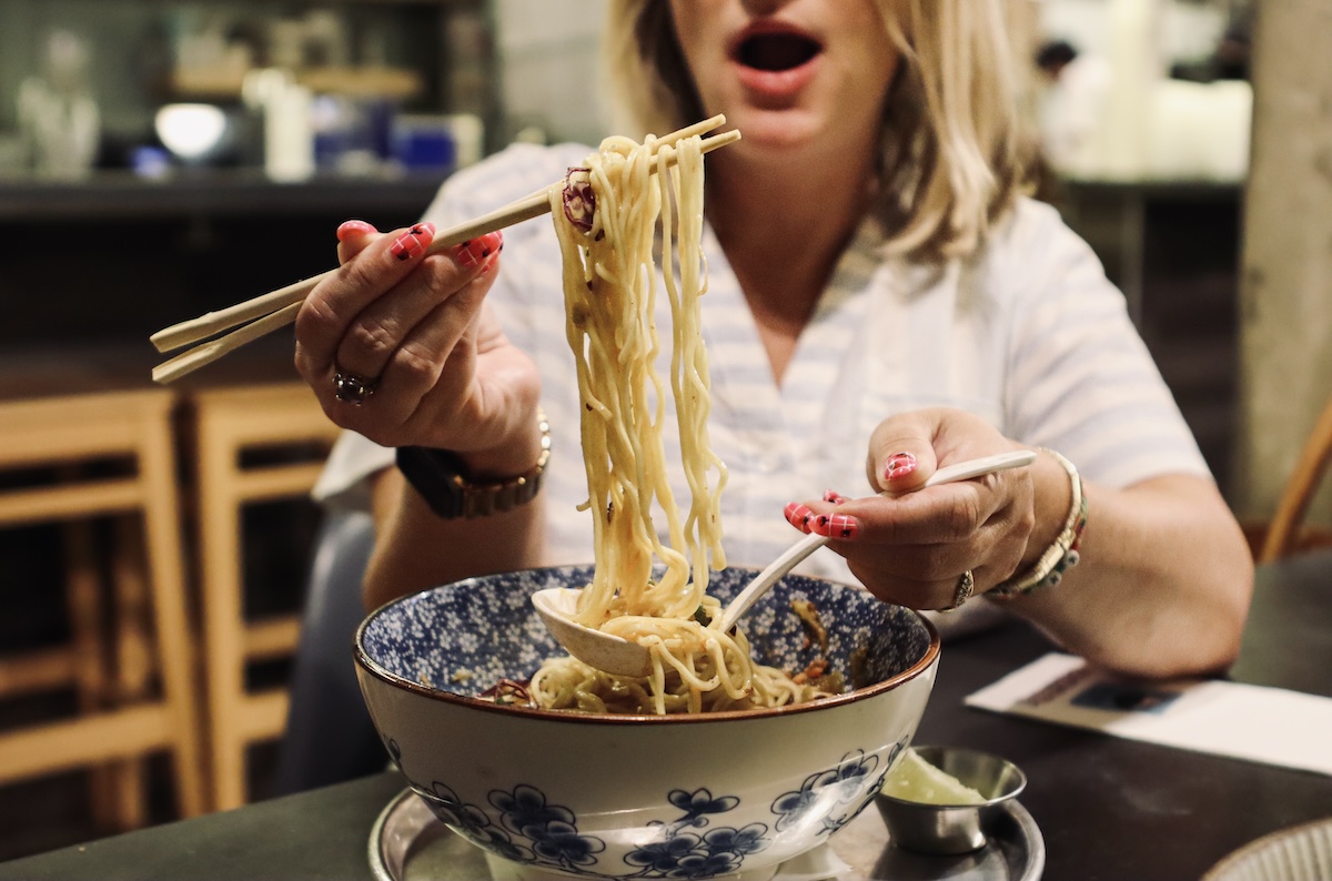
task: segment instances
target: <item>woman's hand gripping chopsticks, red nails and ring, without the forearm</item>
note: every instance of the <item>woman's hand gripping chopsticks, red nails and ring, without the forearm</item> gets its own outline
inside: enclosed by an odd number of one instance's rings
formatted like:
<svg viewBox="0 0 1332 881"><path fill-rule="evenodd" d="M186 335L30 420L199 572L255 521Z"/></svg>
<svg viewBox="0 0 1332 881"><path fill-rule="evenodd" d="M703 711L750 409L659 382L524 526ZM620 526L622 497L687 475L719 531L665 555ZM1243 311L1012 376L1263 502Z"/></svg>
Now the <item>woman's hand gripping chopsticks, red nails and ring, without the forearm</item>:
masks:
<svg viewBox="0 0 1332 881"><path fill-rule="evenodd" d="M485 306L503 236L426 254L430 224L378 233L338 228L340 269L296 318L296 369L324 411L384 446L454 450L478 470L519 474L534 460L541 378ZM370 390L357 403L337 377ZM526 442L525 442L526 440ZM509 459L513 459L510 463Z"/></svg>

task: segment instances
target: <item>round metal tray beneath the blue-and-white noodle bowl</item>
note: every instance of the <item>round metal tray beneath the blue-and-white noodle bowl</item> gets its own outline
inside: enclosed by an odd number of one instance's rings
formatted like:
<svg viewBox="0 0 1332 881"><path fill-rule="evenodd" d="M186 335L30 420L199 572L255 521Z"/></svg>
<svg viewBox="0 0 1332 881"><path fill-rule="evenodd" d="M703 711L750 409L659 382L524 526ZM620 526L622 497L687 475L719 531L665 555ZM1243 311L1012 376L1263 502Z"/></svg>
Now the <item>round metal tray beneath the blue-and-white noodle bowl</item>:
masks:
<svg viewBox="0 0 1332 881"><path fill-rule="evenodd" d="M1040 878L1046 868L1046 842L1019 802L1010 801L1006 810L995 814L986 836L987 846L958 857L912 853L888 840L888 830L876 812L864 810L829 844L782 864L774 881L795 877L827 881ZM517 865L490 857L450 832L410 789L398 793L374 821L369 860L377 881L521 881L527 877Z"/></svg>

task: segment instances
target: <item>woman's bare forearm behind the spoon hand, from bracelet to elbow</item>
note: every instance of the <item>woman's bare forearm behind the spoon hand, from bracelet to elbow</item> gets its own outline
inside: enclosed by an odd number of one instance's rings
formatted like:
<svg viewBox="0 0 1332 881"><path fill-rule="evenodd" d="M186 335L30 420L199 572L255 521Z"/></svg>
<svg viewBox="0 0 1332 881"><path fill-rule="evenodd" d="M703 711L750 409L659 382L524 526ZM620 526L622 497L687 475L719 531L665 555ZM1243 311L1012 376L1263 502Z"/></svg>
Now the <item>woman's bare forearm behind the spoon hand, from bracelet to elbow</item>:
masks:
<svg viewBox="0 0 1332 881"><path fill-rule="evenodd" d="M1253 562L1216 487L1163 476L1126 490L1088 483L1082 562L1007 600L1070 652L1135 676L1219 672L1233 663Z"/></svg>

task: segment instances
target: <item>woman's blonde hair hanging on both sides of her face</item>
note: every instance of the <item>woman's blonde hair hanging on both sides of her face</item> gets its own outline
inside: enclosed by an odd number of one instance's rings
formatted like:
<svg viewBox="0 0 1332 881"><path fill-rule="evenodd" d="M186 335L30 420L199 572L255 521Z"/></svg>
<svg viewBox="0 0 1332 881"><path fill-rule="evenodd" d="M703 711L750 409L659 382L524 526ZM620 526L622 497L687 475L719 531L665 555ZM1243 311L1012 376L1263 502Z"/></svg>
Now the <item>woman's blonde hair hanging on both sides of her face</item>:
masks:
<svg viewBox="0 0 1332 881"><path fill-rule="evenodd" d="M964 257L1030 185L1002 0L876 0L902 56L883 108L878 212L892 253ZM703 118L666 0L611 0L617 124L642 137Z"/></svg>

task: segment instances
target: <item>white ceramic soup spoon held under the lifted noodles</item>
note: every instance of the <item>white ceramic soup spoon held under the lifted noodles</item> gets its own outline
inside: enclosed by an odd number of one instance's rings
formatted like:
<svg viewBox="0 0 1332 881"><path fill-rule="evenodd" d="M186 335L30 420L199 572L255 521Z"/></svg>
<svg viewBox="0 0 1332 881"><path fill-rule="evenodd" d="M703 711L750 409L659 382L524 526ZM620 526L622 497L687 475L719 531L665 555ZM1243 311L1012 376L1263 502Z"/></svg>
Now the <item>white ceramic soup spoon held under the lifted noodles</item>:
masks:
<svg viewBox="0 0 1332 881"><path fill-rule="evenodd" d="M1027 466L1035 462L1035 459L1036 454L1031 450L1016 450L959 462L958 464L950 464L946 468L935 471L922 488L940 483L968 480L984 474ZM737 594L727 603L726 608L722 610L722 631L729 631L739 620L741 615L747 612L763 594L782 580L782 576L827 543L827 536L807 535L773 560L766 570L746 584L745 590ZM646 648L638 643L629 641L623 636L605 633L574 620L574 615L578 611L579 594L582 591L571 587L547 587L531 595L531 604L554 637L559 640L559 644L589 667L619 676L646 675L651 667L651 655Z"/></svg>

